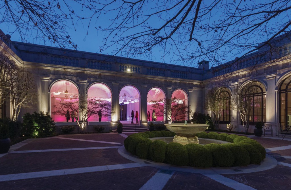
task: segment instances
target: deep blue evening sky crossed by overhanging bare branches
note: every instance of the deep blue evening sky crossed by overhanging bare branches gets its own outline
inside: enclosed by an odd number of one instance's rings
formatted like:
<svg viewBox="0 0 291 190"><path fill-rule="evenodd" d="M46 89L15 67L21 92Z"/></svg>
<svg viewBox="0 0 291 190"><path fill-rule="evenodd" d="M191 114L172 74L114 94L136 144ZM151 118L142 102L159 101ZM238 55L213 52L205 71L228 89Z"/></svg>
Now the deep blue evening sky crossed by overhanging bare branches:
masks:
<svg viewBox="0 0 291 190"><path fill-rule="evenodd" d="M77 30L82 21L88 27L84 35L91 28L106 32L100 53L117 46L115 53L121 56L150 57L161 49L163 57L177 55L184 63L208 58L219 64L229 59L228 52L232 57L273 48L271 40L291 29L290 10L286 0L11 0L0 3L0 24L13 24L22 40L30 32L60 47L76 48L65 29L70 22ZM107 26L93 24L104 19Z"/></svg>

